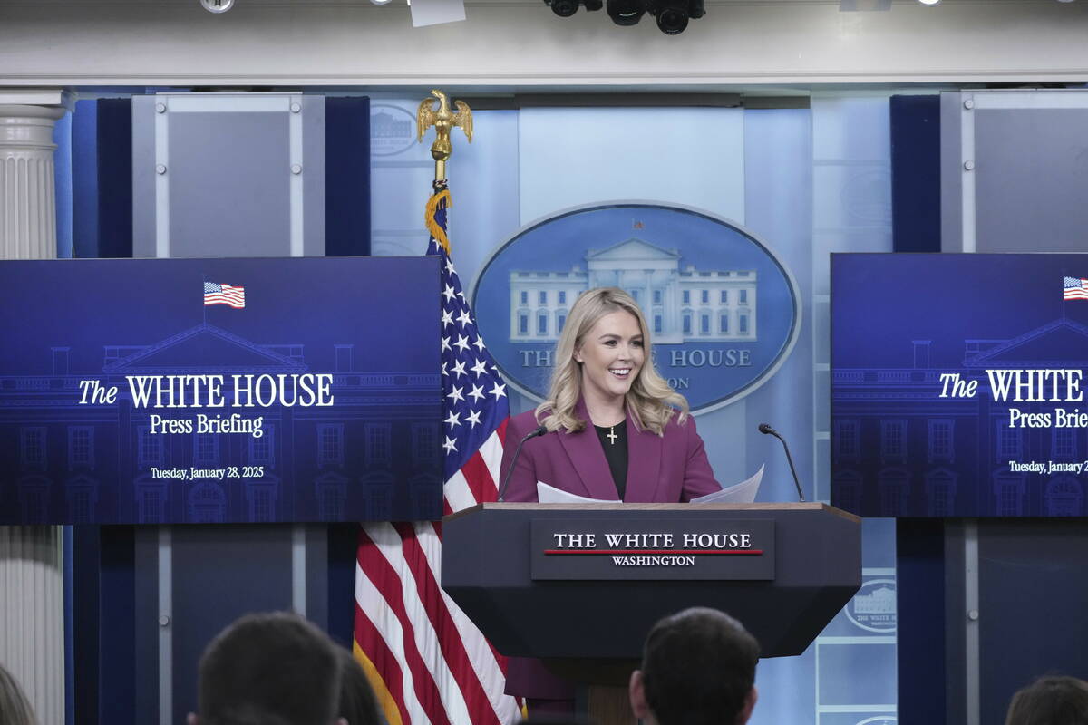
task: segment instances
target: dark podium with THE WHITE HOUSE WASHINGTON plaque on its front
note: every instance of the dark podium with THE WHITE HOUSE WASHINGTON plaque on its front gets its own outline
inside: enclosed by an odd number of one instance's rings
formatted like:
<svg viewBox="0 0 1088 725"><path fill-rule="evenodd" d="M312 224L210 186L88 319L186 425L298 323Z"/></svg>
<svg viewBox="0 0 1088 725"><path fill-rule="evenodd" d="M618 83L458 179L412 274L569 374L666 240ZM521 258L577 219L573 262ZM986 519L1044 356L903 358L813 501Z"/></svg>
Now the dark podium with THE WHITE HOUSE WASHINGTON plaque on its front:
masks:
<svg viewBox="0 0 1088 725"><path fill-rule="evenodd" d="M443 523L442 587L499 652L590 686L602 725L632 722L615 688L660 617L710 607L762 657L795 655L861 583L861 520L823 503L483 503Z"/></svg>

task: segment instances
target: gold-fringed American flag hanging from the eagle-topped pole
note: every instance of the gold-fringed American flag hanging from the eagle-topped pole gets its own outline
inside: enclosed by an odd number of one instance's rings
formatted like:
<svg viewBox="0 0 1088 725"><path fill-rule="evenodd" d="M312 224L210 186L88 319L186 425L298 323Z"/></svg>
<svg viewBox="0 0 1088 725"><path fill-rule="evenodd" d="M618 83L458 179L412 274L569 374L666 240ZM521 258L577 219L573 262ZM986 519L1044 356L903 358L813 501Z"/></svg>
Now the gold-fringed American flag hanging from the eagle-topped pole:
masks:
<svg viewBox="0 0 1088 725"><path fill-rule="evenodd" d="M449 259L449 191L428 204L428 254L442 261L444 510L497 498L509 405ZM506 659L438 586L441 522L367 524L355 578L355 654L391 725L500 725L518 715L503 693Z"/></svg>

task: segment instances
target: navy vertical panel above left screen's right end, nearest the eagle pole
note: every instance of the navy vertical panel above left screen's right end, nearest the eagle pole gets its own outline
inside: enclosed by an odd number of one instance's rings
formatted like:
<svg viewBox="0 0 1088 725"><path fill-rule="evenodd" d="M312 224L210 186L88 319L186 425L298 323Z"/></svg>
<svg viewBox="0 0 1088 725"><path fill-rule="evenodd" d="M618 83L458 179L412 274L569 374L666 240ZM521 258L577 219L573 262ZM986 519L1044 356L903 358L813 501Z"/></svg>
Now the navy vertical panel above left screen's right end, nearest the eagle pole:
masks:
<svg viewBox="0 0 1088 725"><path fill-rule="evenodd" d="M370 254L370 99L325 99L325 255Z"/></svg>

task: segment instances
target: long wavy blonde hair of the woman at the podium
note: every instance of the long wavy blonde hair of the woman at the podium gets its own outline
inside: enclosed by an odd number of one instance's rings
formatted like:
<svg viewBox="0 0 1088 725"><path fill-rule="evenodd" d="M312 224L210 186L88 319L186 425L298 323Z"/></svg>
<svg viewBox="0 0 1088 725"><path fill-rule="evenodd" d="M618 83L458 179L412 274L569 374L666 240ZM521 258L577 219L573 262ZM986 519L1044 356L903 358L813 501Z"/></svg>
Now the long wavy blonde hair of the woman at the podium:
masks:
<svg viewBox="0 0 1088 725"><path fill-rule="evenodd" d="M642 330L645 360L627 392L627 410L635 425L639 429L645 428L660 436L677 410L680 411L678 423L688 418L688 400L673 390L654 368L650 329L639 303L622 289L597 287L578 297L567 316L559 342L555 346L555 364L547 400L536 407L536 422L549 432L577 433L585 428L585 421L579 420L574 412L582 396L582 367L574 360L574 352L581 349L585 336L597 321L619 311L634 315L639 321L639 329Z"/></svg>

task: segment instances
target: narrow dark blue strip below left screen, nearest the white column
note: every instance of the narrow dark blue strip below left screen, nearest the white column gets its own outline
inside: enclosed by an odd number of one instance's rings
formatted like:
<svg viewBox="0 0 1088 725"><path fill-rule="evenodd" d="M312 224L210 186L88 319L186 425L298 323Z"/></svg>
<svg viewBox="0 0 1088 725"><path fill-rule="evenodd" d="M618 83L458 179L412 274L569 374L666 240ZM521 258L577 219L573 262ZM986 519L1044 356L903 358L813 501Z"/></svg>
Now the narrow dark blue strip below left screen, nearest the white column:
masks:
<svg viewBox="0 0 1088 725"><path fill-rule="evenodd" d="M90 528L90 527L88 527ZM137 652L136 652L136 558L135 528L132 526L101 527L101 580L99 623L99 721L102 723L135 723ZM154 617L152 603L150 615ZM78 647L78 646L77 646ZM144 650L140 666L156 662L153 649ZM82 661L82 660L81 660ZM86 665L84 665L85 667ZM81 667L81 674L90 676ZM95 672L95 671L91 671ZM151 696L158 699L153 675ZM86 693L85 693L86 696ZM143 722L152 722L150 720ZM82 723L81 723L82 725Z"/></svg>

